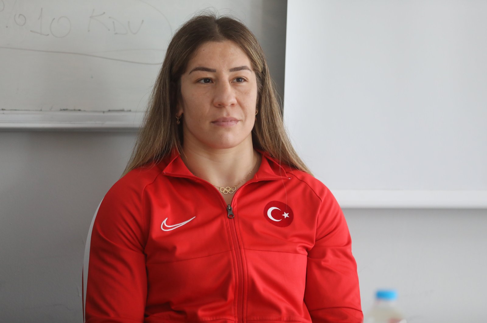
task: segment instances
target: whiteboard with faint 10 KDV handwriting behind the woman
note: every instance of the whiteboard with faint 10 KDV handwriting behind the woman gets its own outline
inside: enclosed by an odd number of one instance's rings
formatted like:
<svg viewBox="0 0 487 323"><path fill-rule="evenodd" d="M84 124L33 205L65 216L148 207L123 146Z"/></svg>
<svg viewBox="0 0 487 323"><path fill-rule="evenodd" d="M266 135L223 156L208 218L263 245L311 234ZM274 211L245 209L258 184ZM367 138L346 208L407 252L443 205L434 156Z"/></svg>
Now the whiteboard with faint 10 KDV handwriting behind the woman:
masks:
<svg viewBox="0 0 487 323"><path fill-rule="evenodd" d="M0 129L136 129L183 22L209 8L260 31L268 3L0 0Z"/></svg>

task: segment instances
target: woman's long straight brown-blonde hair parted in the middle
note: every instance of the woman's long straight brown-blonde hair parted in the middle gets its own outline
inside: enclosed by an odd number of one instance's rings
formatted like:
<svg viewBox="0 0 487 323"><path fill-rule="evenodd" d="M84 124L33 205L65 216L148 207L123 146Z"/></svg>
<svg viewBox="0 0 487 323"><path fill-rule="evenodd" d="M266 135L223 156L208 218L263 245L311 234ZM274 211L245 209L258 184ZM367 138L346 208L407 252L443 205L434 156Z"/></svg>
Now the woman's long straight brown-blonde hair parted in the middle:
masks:
<svg viewBox="0 0 487 323"><path fill-rule="evenodd" d="M183 132L182 127L176 124L181 75L199 46L208 41L225 40L234 41L244 50L256 73L259 114L252 129L254 148L266 151L282 163L311 174L285 131L275 84L257 38L237 19L217 17L214 13L206 12L189 19L172 37L122 177L134 168L159 161L174 148L181 153Z"/></svg>

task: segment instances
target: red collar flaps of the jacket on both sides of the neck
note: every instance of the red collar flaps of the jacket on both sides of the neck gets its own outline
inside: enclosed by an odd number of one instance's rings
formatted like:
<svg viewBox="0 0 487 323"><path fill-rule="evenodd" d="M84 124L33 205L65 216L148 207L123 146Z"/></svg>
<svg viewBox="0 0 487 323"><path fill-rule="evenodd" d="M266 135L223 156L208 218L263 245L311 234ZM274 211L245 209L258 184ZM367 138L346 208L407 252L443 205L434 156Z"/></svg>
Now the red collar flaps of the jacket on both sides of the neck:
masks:
<svg viewBox="0 0 487 323"><path fill-rule="evenodd" d="M254 179L288 179L286 171L278 160L272 158L266 151L256 150L262 155L262 162ZM162 170L163 174L176 177L196 177L189 171L177 149L173 149L166 160L168 164Z"/></svg>

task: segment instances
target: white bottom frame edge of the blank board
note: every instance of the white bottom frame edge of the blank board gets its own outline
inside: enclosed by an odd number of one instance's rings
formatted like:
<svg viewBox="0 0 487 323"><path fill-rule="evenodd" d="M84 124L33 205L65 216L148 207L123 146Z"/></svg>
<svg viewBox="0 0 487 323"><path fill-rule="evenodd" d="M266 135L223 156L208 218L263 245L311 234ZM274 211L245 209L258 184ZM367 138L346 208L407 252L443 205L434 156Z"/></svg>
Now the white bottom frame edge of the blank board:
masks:
<svg viewBox="0 0 487 323"><path fill-rule="evenodd" d="M331 190L344 209L487 209L484 190Z"/></svg>

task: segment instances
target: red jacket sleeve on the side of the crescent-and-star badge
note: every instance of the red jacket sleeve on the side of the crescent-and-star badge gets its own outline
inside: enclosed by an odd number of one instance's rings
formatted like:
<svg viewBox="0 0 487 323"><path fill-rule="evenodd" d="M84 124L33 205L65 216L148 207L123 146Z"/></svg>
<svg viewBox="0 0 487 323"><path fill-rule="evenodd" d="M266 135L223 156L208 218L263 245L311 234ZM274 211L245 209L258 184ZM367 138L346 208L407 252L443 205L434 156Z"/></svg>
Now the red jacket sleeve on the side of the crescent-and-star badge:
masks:
<svg viewBox="0 0 487 323"><path fill-rule="evenodd" d="M316 241L308 252L304 303L313 322L361 323L357 267L348 226L326 187L320 198Z"/></svg>

